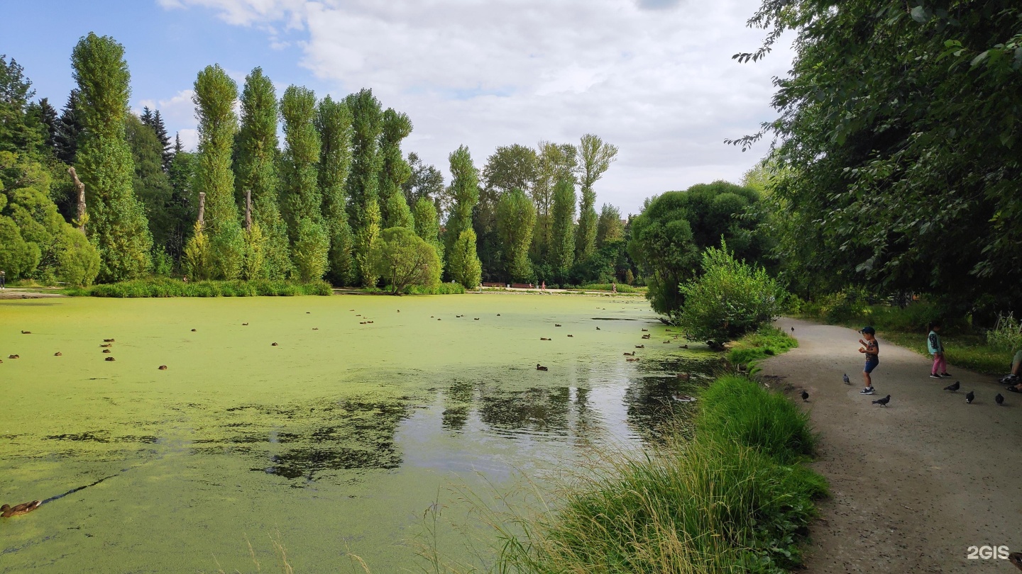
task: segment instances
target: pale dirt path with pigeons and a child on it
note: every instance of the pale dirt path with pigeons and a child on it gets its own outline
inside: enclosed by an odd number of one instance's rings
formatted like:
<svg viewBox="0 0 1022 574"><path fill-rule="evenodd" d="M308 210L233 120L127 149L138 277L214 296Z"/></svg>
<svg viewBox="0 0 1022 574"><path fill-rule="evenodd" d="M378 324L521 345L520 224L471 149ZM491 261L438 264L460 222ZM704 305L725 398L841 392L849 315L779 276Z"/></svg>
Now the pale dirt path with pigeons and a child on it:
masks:
<svg viewBox="0 0 1022 574"><path fill-rule="evenodd" d="M855 331L789 319L779 326L795 328L799 347L764 362L763 374L809 392L805 406L822 434L814 466L831 483L810 530L807 572L1016 572L1007 560L966 557L972 545L1022 551L1022 395L962 369L930 379L930 361L880 338L877 394L862 396ZM962 390L941 390L957 380ZM994 403L997 392L1007 406ZM888 393L888 408L871 403Z"/></svg>

